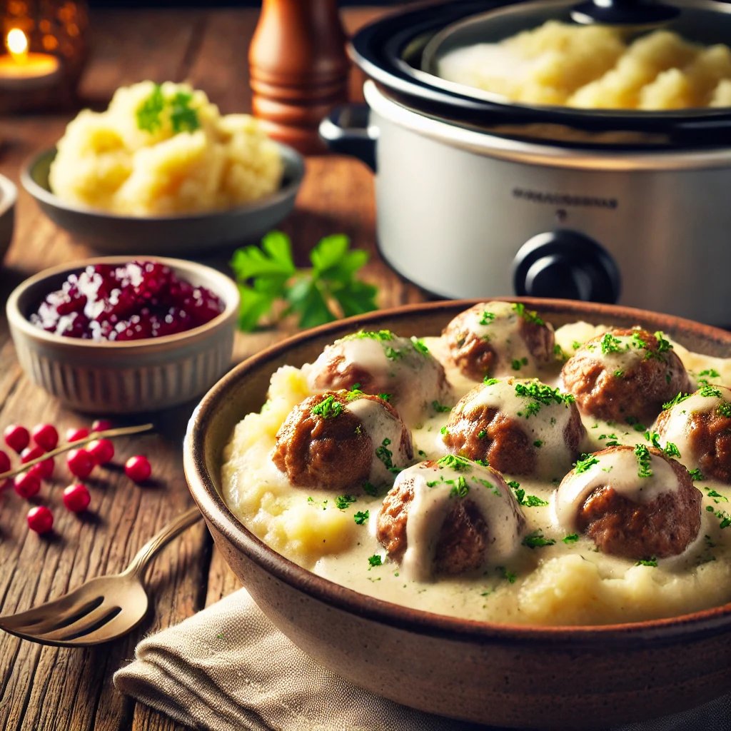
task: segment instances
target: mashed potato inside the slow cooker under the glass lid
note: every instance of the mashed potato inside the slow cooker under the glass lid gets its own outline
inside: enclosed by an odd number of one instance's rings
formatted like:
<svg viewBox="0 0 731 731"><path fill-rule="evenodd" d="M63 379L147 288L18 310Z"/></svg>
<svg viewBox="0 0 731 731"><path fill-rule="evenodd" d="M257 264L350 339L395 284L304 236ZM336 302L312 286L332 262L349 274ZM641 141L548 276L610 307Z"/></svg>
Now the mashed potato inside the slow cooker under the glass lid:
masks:
<svg viewBox="0 0 731 731"><path fill-rule="evenodd" d="M606 26L549 20L501 43L447 53L439 75L515 102L588 109L731 105L731 50L659 30L627 45Z"/></svg>

